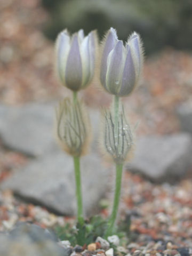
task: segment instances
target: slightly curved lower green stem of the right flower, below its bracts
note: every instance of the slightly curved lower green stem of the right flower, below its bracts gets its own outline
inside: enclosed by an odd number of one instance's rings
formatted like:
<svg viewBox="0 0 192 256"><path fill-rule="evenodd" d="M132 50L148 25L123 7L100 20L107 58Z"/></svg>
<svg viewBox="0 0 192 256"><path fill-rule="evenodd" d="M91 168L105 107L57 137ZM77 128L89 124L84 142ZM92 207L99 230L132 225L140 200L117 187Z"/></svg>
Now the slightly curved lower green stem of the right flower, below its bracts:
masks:
<svg viewBox="0 0 192 256"><path fill-rule="evenodd" d="M113 228L114 228L115 220L117 217L119 198L121 195L122 173L123 173L123 164L116 164L116 183L115 183L114 204L113 204L113 210L111 212L111 215L108 221L108 227L105 234L106 238L113 234Z"/></svg>

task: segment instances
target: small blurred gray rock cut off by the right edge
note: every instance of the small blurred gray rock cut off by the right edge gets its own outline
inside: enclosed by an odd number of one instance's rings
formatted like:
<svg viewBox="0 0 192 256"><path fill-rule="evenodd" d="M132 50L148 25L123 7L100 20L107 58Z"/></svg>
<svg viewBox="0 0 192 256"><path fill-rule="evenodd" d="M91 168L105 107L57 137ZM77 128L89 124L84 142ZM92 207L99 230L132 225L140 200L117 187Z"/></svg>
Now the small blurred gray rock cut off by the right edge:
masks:
<svg viewBox="0 0 192 256"><path fill-rule="evenodd" d="M177 115L181 130L192 134L192 101L182 103L177 108Z"/></svg>

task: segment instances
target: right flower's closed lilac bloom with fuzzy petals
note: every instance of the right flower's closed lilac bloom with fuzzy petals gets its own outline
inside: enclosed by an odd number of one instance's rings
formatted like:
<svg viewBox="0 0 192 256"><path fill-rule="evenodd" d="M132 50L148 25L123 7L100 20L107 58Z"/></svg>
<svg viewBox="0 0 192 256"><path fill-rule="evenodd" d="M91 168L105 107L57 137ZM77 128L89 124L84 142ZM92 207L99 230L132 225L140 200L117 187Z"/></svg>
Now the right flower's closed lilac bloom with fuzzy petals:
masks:
<svg viewBox="0 0 192 256"><path fill-rule="evenodd" d="M129 95L138 84L143 62L140 36L133 33L125 46L118 40L116 30L110 28L103 41L100 81L111 94Z"/></svg>

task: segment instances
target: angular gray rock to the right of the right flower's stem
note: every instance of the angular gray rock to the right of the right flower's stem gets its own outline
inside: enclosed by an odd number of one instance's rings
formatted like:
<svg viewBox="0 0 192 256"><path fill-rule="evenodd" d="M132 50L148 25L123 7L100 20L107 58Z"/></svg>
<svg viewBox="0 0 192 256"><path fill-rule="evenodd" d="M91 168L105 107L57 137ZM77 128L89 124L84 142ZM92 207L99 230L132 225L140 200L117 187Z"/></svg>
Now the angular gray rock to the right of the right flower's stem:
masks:
<svg viewBox="0 0 192 256"><path fill-rule="evenodd" d="M148 136L136 142L135 155L127 169L139 172L152 181L182 178L192 162L192 139L181 133L162 137Z"/></svg>

